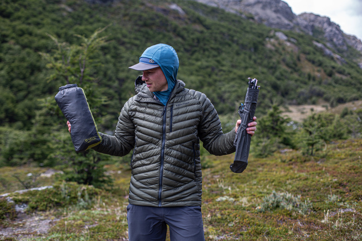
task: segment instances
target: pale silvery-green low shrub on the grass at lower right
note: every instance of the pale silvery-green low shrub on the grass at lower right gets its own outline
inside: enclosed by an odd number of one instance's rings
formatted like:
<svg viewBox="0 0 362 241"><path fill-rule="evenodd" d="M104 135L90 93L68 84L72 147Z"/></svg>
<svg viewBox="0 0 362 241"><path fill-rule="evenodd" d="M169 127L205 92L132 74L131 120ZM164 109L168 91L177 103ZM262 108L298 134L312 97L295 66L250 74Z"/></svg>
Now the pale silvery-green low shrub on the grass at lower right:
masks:
<svg viewBox="0 0 362 241"><path fill-rule="evenodd" d="M309 199L302 202L300 200L300 195L294 196L288 192L277 193L276 191L273 191L269 196L263 198L263 203L257 210L264 212L276 208L295 210L301 214L307 214L307 212L312 209L312 203Z"/></svg>

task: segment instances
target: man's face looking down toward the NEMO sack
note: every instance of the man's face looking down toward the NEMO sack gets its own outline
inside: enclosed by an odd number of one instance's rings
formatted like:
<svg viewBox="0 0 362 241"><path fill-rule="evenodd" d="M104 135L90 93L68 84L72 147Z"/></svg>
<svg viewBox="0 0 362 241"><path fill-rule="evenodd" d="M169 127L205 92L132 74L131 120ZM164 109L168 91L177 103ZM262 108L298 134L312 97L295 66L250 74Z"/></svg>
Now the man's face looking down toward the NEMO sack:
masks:
<svg viewBox="0 0 362 241"><path fill-rule="evenodd" d="M151 92L166 91L168 89L167 79L161 67L143 70L142 81L146 82Z"/></svg>

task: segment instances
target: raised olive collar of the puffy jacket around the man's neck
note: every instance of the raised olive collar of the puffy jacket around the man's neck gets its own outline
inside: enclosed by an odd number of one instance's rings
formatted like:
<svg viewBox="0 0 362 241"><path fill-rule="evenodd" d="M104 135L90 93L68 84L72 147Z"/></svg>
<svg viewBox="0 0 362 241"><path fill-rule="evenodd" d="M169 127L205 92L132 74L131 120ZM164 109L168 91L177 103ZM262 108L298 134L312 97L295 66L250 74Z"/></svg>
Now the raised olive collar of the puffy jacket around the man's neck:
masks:
<svg viewBox="0 0 362 241"><path fill-rule="evenodd" d="M185 83L178 79L171 92L170 99L180 93L184 87ZM150 90L148 90L146 83L142 81L142 75L138 76L135 80L135 94L135 100L139 102L153 102L162 104L159 100L154 99L155 95Z"/></svg>

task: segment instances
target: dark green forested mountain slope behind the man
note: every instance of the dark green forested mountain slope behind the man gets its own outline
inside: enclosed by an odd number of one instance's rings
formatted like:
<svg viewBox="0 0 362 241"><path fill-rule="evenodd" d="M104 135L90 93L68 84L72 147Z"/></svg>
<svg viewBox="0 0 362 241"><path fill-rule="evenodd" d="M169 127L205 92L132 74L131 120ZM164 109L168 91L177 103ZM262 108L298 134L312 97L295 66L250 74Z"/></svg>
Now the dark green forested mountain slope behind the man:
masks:
<svg viewBox="0 0 362 241"><path fill-rule="evenodd" d="M278 30L194 1L89 2L1 1L0 126L7 130L1 132L3 158L6 151L22 153L9 147L9 135L28 135L30 141L18 140L26 145L14 145L36 152L28 159L44 159L49 153L37 150L49 143L47 135L58 130L53 127L64 123L50 99L66 82L49 79L54 70L46 68L38 54L56 48L46 33L79 44L73 34L89 36L112 23L102 34L113 42L94 53L92 69L87 69L98 82L97 94L106 97L93 109L102 132L114 129L121 107L134 94L134 80L141 73L128 67L157 43L175 48L178 79L204 92L221 114L235 111L236 103L243 101L247 77L257 78L262 86L258 115L272 104L323 98L333 106L362 98L362 69L352 61L325 56L312 36L283 31L288 39L281 40L275 35Z"/></svg>

